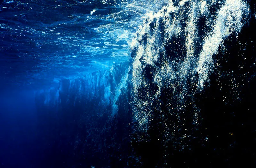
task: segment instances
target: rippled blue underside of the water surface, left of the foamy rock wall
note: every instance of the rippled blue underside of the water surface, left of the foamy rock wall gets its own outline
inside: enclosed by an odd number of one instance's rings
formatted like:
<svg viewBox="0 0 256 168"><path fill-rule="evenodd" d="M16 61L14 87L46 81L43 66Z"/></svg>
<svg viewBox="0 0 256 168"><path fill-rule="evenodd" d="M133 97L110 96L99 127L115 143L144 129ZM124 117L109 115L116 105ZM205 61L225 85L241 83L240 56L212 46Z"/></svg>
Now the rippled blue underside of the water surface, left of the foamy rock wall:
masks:
<svg viewBox="0 0 256 168"><path fill-rule="evenodd" d="M1 79L11 85L38 85L128 61L145 13L163 5L144 0L4 0Z"/></svg>

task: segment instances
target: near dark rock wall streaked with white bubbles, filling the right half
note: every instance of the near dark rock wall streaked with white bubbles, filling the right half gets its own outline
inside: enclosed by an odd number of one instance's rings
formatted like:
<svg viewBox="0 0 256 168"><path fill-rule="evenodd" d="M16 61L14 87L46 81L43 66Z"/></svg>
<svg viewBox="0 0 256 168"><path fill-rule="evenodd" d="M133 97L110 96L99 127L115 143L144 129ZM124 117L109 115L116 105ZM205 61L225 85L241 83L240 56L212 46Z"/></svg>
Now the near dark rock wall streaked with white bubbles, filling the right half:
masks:
<svg viewBox="0 0 256 168"><path fill-rule="evenodd" d="M130 74L132 139L145 167L255 162L254 29L252 1L170 1L149 14Z"/></svg>

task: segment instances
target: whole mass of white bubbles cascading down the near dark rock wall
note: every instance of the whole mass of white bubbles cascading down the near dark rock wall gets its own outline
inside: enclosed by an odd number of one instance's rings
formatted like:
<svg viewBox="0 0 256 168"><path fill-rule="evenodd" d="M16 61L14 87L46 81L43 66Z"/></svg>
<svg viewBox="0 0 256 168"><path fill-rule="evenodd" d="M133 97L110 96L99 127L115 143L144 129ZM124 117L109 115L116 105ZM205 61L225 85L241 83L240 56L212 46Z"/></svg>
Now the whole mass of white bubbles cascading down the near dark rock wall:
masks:
<svg viewBox="0 0 256 168"><path fill-rule="evenodd" d="M240 32L243 27L243 18L248 15L248 6L245 2L242 0L226 0L225 3L220 3L222 6L216 16L209 16L208 6L218 2L212 1L208 2L209 4L207 2L205 0L183 0L180 1L179 6L174 6L173 2L170 1L159 12L149 12L147 15L148 21L144 21L143 26L138 26L138 36L132 40L131 46L136 48L132 63L133 95L134 104L136 104L133 112L139 129L143 128L145 131L150 117L153 113L156 113L157 108L160 108L161 103L151 105L151 102L153 100L154 103L160 101L158 97L161 96L163 88L172 90L177 100L177 107L167 108L170 113L173 113L173 108L179 110L185 108L188 97L193 103L196 90L189 91L192 86L188 85L187 79L196 79L195 74L198 73L199 79L195 81L196 89L197 91L204 89L204 83L208 81L208 75L214 68L212 56L218 52L218 48L225 38L232 33ZM180 24L184 20L183 15L186 17L186 27L183 27L184 24ZM202 42L200 42L202 50L198 54L195 52L197 50L196 43L199 39L201 40L201 37L198 37L197 23L198 18L202 15L206 17L206 24L211 23L207 26L211 27L210 30L212 31L206 32ZM154 23L153 30L152 26L149 26L152 22ZM162 29L160 31L161 26L164 27L164 32L162 32ZM143 36L145 34L147 34L146 43L141 42L144 40ZM185 44L181 45L181 41L171 40L169 42L170 39L180 37L185 38ZM185 47L185 53L182 53L182 55L165 55L164 44L167 41L170 45ZM173 53L175 54L175 51ZM161 57L162 62L159 68L156 66L156 62L161 54L164 56ZM155 68L151 82L156 84L158 89L153 95L151 95L148 79L145 79L146 65ZM143 96L140 96L142 94L141 89L144 89ZM195 125L198 125L198 112L199 109L196 105L193 105L193 123ZM179 114L177 114L177 117L179 117Z"/></svg>

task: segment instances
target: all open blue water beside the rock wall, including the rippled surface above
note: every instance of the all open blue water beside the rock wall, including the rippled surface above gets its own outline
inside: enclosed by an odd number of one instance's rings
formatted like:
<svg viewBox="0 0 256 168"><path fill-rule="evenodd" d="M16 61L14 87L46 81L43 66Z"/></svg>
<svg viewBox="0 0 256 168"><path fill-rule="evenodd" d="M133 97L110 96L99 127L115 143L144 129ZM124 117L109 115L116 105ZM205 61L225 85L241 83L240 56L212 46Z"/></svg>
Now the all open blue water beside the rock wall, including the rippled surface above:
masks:
<svg viewBox="0 0 256 168"><path fill-rule="evenodd" d="M48 142L54 141L51 136L44 137L39 127L43 124L49 129L52 123L45 118L38 122L36 93L51 90L63 79L84 79L128 62L131 40L143 16L159 10L164 3L1 2L0 167L44 167L43 162L56 167L65 165L65 160L55 164L46 156L54 150ZM85 86L84 94L86 90Z"/></svg>

